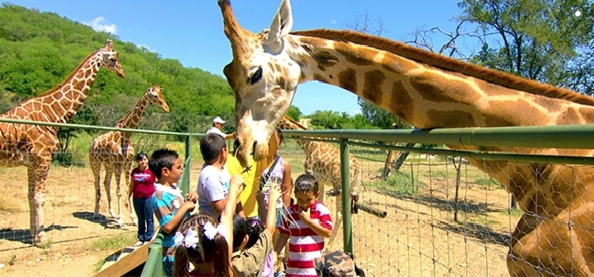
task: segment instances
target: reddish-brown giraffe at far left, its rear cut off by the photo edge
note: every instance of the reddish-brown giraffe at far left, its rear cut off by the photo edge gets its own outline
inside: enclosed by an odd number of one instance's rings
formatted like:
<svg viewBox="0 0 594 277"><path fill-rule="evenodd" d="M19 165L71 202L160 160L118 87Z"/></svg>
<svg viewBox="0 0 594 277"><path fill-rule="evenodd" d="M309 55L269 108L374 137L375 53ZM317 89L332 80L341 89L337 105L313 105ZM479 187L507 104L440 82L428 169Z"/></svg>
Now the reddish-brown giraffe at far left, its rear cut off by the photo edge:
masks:
<svg viewBox="0 0 594 277"><path fill-rule="evenodd" d="M40 96L24 100L0 118L45 122L68 122L87 98L99 68L105 67L124 78L118 52L108 40L105 47L83 59L64 82ZM0 165L26 166L28 177L30 233L33 244L45 240L43 204L52 153L58 149L57 128L0 123Z"/></svg>

